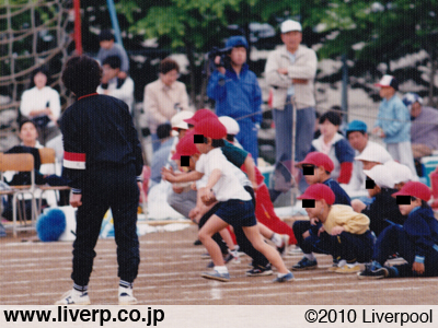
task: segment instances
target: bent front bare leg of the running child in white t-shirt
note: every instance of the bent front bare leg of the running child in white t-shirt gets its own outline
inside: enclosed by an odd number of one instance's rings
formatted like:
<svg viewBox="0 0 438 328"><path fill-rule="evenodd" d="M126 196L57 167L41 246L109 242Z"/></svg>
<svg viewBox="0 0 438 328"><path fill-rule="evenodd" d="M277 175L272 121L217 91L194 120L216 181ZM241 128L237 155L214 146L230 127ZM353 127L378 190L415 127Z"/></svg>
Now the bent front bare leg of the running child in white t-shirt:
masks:
<svg viewBox="0 0 438 328"><path fill-rule="evenodd" d="M214 234L226 229L228 225L218 215L212 215L206 224L199 230L198 238L207 248L208 254L211 257L211 260L215 266L221 267L224 266L222 251L220 251L219 245L211 238Z"/></svg>

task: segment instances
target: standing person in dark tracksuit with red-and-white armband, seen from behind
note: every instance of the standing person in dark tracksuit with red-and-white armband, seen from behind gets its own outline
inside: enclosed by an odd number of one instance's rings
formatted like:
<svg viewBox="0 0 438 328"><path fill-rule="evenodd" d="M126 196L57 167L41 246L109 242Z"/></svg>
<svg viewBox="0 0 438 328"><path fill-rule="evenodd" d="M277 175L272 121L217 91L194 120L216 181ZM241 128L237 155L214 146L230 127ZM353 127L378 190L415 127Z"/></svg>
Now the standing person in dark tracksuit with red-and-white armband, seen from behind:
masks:
<svg viewBox="0 0 438 328"><path fill-rule="evenodd" d="M117 244L119 304L136 304L132 283L140 262L137 208L142 155L128 106L95 93L102 70L87 56L68 60L62 82L77 102L66 109L62 175L71 180L70 204L78 208L73 243L73 289L57 305L90 304L88 284L94 247L105 212L111 208Z"/></svg>

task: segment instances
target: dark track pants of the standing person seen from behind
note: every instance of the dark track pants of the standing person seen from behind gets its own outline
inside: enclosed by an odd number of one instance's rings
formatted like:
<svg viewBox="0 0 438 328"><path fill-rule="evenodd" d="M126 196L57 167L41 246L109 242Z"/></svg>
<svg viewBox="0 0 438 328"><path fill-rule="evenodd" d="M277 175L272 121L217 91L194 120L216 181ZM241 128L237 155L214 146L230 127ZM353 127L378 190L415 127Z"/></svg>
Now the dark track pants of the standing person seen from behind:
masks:
<svg viewBox="0 0 438 328"><path fill-rule="evenodd" d="M88 285L96 256L102 220L111 208L117 244L118 277L134 282L140 263L137 236L137 208L139 190L134 164L104 168L88 175L82 190L82 206L77 213L77 237L73 243L73 272L78 285Z"/></svg>

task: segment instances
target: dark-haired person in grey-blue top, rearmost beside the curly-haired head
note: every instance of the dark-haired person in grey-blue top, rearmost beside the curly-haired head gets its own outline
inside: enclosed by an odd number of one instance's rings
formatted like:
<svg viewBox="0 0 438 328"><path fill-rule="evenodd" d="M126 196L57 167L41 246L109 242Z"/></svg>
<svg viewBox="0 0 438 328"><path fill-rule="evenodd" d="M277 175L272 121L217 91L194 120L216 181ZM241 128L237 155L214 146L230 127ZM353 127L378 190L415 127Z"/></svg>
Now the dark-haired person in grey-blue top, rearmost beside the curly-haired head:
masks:
<svg viewBox="0 0 438 328"><path fill-rule="evenodd" d="M102 30L99 34L99 45L101 46L96 56L99 62L103 65L105 59L110 56L117 56L122 61L117 78L125 80L129 73L129 57L125 48L115 43L114 35L110 30Z"/></svg>

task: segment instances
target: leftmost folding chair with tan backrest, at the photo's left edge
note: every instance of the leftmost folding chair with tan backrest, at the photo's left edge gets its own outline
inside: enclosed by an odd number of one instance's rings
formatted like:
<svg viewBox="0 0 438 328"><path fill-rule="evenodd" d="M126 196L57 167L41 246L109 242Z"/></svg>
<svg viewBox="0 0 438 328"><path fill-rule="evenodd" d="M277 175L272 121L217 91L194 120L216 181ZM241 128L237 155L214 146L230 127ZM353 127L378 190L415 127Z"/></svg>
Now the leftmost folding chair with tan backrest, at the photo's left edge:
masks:
<svg viewBox="0 0 438 328"><path fill-rule="evenodd" d="M11 190L1 190L0 196L12 196L12 232L13 236L16 237L18 231L30 231L35 229L35 222L37 218L36 213L36 200L34 196L35 191L35 172L34 172L34 156L32 154L4 154L0 153L0 177L3 179L3 173L7 171L16 172L30 172L31 173L31 185L26 186L10 186ZM32 197L32 215L31 224L27 223L25 212L25 198L24 195L31 195ZM20 213L20 226L16 223L18 201L19 197L22 197L23 211ZM19 211L20 212L20 211Z"/></svg>

